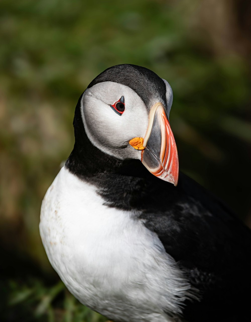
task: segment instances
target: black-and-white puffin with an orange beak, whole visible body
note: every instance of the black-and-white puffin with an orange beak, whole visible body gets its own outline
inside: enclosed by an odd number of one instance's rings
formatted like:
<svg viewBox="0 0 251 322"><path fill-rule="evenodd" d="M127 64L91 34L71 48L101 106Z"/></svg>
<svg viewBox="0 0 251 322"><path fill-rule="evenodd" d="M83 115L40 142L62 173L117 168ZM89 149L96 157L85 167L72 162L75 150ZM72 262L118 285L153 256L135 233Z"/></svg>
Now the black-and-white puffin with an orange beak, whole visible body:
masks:
<svg viewBox="0 0 251 322"><path fill-rule="evenodd" d="M43 246L67 289L109 320L250 322L251 231L179 173L172 101L165 79L132 64L88 85L42 201Z"/></svg>

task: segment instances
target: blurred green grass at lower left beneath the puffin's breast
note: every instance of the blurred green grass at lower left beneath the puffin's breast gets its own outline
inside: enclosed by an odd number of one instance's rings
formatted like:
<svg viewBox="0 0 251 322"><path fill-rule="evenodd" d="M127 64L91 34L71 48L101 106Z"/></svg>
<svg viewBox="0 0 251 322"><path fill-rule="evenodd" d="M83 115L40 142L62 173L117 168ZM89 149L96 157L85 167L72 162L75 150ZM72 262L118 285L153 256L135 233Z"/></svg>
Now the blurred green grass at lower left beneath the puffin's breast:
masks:
<svg viewBox="0 0 251 322"><path fill-rule="evenodd" d="M42 280L28 284L10 280L9 298L1 320L48 322L104 322L107 319L86 308L66 289L62 281L45 286Z"/></svg>

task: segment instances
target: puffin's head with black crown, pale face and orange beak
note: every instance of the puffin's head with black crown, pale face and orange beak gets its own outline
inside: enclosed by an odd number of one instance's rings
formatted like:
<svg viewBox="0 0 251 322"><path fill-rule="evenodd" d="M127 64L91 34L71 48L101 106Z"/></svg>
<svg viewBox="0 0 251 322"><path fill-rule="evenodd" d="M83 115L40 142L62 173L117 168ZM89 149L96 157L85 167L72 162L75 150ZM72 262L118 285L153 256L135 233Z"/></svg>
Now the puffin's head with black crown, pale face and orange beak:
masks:
<svg viewBox="0 0 251 322"><path fill-rule="evenodd" d="M116 65L99 74L81 96L81 121L103 153L139 159L153 175L177 185L178 154L168 121L172 101L170 85L153 71Z"/></svg>

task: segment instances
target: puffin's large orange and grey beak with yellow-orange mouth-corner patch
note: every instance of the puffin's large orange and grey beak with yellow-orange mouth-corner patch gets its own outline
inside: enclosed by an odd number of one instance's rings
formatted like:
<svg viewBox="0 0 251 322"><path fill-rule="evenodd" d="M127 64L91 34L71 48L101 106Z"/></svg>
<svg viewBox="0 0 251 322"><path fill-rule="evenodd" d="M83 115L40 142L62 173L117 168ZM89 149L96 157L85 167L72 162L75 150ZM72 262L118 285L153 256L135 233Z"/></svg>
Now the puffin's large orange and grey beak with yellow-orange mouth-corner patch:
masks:
<svg viewBox="0 0 251 322"><path fill-rule="evenodd" d="M161 103L150 109L147 133L133 138L130 145L141 152L141 162L155 176L174 184L178 183L179 159L173 132Z"/></svg>

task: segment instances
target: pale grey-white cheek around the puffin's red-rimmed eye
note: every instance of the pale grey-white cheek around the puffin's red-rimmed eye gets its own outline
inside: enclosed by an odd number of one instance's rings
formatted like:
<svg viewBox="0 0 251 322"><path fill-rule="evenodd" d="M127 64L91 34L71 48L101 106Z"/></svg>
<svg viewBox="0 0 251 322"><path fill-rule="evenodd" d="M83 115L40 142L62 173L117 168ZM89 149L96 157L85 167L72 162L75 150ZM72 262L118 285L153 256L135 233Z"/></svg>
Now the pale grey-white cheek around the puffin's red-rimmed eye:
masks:
<svg viewBox="0 0 251 322"><path fill-rule="evenodd" d="M115 90L110 97L107 92L93 88L84 94L81 113L86 134L90 141L105 153L119 158L140 159L140 151L132 148L128 142L133 137L145 136L148 127L147 109L133 90L117 83L112 85ZM125 111L118 115L110 104L122 95L125 97ZM128 147L125 148L126 145Z"/></svg>

